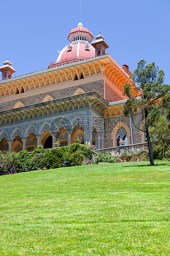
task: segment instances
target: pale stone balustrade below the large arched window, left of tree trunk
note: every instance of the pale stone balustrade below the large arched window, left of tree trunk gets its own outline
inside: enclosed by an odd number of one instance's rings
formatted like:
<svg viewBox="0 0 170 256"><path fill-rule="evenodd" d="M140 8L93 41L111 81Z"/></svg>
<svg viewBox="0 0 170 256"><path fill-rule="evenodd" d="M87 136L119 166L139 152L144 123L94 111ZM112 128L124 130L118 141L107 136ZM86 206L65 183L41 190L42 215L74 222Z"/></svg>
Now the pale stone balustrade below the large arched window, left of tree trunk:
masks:
<svg viewBox="0 0 170 256"><path fill-rule="evenodd" d="M97 149L96 152L110 152L114 156L120 156L122 153L127 152L128 154L137 153L141 150L147 150L148 151L148 145L147 142L145 143L138 143L133 145L126 145L126 146L119 146L119 147L109 147L106 149Z"/></svg>

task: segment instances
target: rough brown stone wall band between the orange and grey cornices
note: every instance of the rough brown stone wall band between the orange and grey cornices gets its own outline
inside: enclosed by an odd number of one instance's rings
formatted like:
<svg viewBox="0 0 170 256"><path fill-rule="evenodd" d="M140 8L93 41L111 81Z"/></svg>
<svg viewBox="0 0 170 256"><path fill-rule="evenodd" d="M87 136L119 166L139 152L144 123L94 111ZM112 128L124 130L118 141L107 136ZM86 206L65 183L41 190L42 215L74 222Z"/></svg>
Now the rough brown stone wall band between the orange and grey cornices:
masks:
<svg viewBox="0 0 170 256"><path fill-rule="evenodd" d="M82 80L82 82L83 82L83 80ZM73 93L75 92L75 90L77 90L78 88L82 88L85 92L96 91L96 92L98 92L98 94L103 96L103 83L102 83L102 80L99 80L99 81L95 81L95 82L91 82L91 83L82 83L81 85L76 85L76 86L72 86L69 88L63 88L63 89L59 89L59 90L54 90L51 92L45 92L45 93L40 93L40 94L37 93L37 95L32 95L29 97L22 97L24 95L24 93L22 93L21 98L17 98L16 100L14 99L14 100L7 101L7 102L1 102L0 111L12 109L18 101L22 102L24 104L24 106L42 102L43 98L46 95L50 95L51 97L54 98L54 100L63 98L63 97L72 96ZM37 92L38 92L38 90L37 90ZM15 95L14 95L14 98L15 98Z"/></svg>

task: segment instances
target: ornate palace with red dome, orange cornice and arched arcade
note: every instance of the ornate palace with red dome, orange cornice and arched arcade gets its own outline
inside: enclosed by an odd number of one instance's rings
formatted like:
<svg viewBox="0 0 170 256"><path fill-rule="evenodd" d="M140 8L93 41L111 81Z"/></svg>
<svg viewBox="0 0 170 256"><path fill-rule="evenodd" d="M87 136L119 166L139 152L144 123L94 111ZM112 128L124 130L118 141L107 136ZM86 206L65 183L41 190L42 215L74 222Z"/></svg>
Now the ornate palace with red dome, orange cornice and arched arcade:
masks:
<svg viewBox="0 0 170 256"><path fill-rule="evenodd" d="M33 151L41 143L52 148L55 140L66 146L77 136L96 149L117 147L125 138L127 145L145 142L144 133L121 112L129 67L119 66L107 48L100 33L93 40L79 22L47 69L12 77L12 63L3 62L0 150Z"/></svg>

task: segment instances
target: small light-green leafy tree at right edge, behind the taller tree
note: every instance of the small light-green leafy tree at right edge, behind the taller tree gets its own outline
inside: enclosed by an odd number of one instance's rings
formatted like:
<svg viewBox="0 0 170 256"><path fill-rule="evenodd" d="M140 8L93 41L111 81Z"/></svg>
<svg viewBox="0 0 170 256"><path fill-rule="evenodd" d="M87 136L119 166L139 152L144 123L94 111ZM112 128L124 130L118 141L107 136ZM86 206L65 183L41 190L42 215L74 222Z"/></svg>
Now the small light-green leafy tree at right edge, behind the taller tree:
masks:
<svg viewBox="0 0 170 256"><path fill-rule="evenodd" d="M149 128L151 142L153 142L154 149L158 152L159 157L162 159L165 149L165 138L170 134L168 129L168 121L165 116L158 116L154 126Z"/></svg>

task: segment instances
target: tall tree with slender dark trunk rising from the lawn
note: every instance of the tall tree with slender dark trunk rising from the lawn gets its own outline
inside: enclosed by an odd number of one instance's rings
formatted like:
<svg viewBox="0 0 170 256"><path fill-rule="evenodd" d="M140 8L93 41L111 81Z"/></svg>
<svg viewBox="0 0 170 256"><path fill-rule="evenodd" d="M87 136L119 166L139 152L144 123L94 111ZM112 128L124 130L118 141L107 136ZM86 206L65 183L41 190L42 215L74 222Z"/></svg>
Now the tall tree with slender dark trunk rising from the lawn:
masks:
<svg viewBox="0 0 170 256"><path fill-rule="evenodd" d="M161 115L161 108L165 103L164 97L170 93L170 85L164 83L164 71L158 71L155 63L146 65L146 61L141 60L137 64L137 69L130 76L132 85L126 83L124 85L123 95L128 97L123 107L123 114L131 116L133 125L146 133L149 149L150 164L154 165L154 159L151 150L151 140L149 135L149 127L152 126L158 116ZM140 129L137 127L135 117L140 118L144 124ZM144 123L145 121L145 123Z"/></svg>

